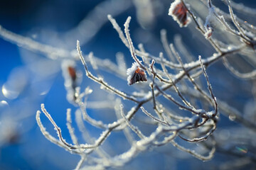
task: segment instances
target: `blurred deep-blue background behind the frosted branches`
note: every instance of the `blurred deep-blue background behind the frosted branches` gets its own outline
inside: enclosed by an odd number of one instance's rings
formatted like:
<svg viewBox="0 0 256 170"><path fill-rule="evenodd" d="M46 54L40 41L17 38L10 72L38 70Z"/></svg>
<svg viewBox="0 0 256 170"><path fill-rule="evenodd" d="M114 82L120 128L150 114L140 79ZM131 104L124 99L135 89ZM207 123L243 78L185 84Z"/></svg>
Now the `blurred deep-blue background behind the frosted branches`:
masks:
<svg viewBox="0 0 256 170"><path fill-rule="evenodd" d="M167 30L169 42L172 42L176 35L181 35L187 50L194 56L210 56L214 52L208 44L206 47L209 48L200 48L204 41L198 38L199 34L193 26L181 29L167 15L171 1L151 0L151 6L147 8L134 6L140 1L129 0L6 0L0 2L0 25L6 30L69 52L75 50L76 40L80 40L84 54L93 52L96 57L109 59L112 62L115 62L117 52L123 52L128 67L133 62L132 57L107 20L107 14L112 14L122 28L127 16L132 16L129 30L131 30L134 45L143 43L146 50L156 56L160 51L164 51L160 41L160 30L163 28ZM255 1L241 2L256 8ZM213 4L228 11L222 1L213 1ZM243 13L239 14L245 17ZM43 52L27 50L26 47L19 47L9 40L6 41L5 38L0 38L0 169L74 169L80 159L78 155L70 154L46 140L36 124L36 111L40 110L41 103L45 103L48 112L62 128L63 136L69 137L65 125L65 112L67 108L73 111L75 108L66 99L61 60L52 59L55 59L55 56L46 56ZM79 63L78 67L83 73L82 64ZM220 62L215 63L215 67L210 67L208 74L218 98L233 103L239 111L248 115L253 114L249 113L250 107L255 106L250 82L239 81L226 71ZM226 80L219 80L220 75L226 77ZM107 77L108 74L105 76ZM114 78L109 79L115 81ZM121 81L120 84L127 84L125 80ZM119 84L119 81L114 83ZM83 87L85 84L86 82L82 81ZM230 85L227 87L227 84ZM233 88L229 88L230 86ZM126 88L123 87L123 89ZM238 89L243 92L236 94L235 91ZM226 92L225 95L223 91ZM96 92L92 99L97 98L97 95L101 94ZM92 115L93 112L92 109L88 111ZM94 116L107 119L106 115ZM47 130L55 135L50 122L43 115L41 117ZM225 127L240 127L232 119L232 117L220 116L219 134L223 140L230 135L230 131L225 130ZM91 130L94 132L93 128ZM95 133L99 131L95 130ZM69 138L67 140L70 141ZM117 148L122 148L122 145L119 145L117 144ZM245 145L239 144L238 148L247 154L248 148ZM164 153L161 149L140 154L124 169L140 169L140 166L142 169L197 169L198 167L218 169L217 164L225 159L225 154L216 154L213 160L204 164L191 155L184 156L178 153L175 155L176 159L173 159L169 153ZM149 162L151 164L148 164ZM253 169L255 165L248 167Z"/></svg>

